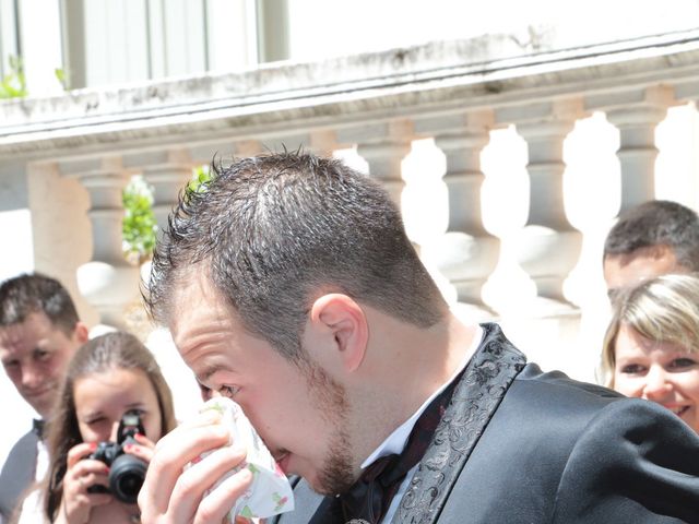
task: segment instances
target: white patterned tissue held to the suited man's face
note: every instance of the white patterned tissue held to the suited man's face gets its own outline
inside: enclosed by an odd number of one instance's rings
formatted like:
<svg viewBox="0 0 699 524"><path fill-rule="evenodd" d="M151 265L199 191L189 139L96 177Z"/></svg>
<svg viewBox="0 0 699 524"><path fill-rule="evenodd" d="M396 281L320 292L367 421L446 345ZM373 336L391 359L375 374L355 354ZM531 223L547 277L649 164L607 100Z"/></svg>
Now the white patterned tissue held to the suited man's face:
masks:
<svg viewBox="0 0 699 524"><path fill-rule="evenodd" d="M284 472L280 469L272 454L266 449L262 439L238 406L230 398L214 397L209 400L200 409L201 413L208 409L215 409L221 413L221 424L230 429L230 440L228 445L234 444L242 448L247 452L245 462L237 468L221 477L211 488L215 489L230 475L244 467L252 473L250 487L240 497L228 513L229 522L235 521L236 515L249 519L276 515L292 511L294 509L294 492L288 484ZM211 452L202 453L192 461L196 464L203 460ZM210 490L211 491L211 490ZM205 493L209 495L209 491Z"/></svg>

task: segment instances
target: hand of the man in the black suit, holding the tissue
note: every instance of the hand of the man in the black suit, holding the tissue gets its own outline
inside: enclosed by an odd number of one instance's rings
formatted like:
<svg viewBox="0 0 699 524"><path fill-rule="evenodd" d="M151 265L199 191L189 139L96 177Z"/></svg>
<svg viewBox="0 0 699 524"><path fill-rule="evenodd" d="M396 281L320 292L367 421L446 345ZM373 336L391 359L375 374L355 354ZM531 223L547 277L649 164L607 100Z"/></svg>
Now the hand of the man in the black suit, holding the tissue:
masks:
<svg viewBox="0 0 699 524"><path fill-rule="evenodd" d="M246 452L237 449L235 442L226 445L229 431L217 424L220 420L217 412L206 410L163 437L155 445L139 493L143 524L221 523L248 489L252 474L242 468L206 493L246 457ZM211 454L185 469L204 452Z"/></svg>

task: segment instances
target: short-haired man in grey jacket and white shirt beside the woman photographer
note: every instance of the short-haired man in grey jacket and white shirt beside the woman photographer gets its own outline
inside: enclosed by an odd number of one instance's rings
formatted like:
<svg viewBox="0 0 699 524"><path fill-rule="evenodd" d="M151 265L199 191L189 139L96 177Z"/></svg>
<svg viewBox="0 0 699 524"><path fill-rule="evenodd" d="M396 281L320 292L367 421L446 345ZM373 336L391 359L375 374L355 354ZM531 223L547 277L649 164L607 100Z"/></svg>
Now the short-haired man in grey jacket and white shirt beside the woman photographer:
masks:
<svg viewBox="0 0 699 524"><path fill-rule="evenodd" d="M87 327L55 278L24 274L0 285L0 361L8 378L40 418L10 451L0 473L0 515L7 522L25 489L46 471L44 421L70 358L87 341Z"/></svg>

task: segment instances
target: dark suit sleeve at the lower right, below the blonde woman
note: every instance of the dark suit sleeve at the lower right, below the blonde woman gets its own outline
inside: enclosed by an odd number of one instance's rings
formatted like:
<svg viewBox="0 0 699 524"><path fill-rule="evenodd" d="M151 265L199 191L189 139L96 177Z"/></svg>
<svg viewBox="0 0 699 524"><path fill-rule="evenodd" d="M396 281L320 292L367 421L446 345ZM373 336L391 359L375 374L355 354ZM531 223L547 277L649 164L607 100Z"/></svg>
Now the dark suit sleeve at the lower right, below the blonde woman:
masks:
<svg viewBox="0 0 699 524"><path fill-rule="evenodd" d="M611 403L573 446L556 523L699 523L699 436L647 401Z"/></svg>

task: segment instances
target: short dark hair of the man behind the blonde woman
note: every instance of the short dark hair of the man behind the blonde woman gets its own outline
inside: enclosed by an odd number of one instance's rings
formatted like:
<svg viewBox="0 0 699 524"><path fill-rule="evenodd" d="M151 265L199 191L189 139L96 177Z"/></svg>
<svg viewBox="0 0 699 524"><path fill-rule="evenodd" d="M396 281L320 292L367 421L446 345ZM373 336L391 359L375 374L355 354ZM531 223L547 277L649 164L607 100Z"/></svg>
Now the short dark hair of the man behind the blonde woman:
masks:
<svg viewBox="0 0 699 524"><path fill-rule="evenodd" d="M677 202L651 200L619 216L604 242L604 257L630 254L641 248L668 246L677 264L699 271L699 216Z"/></svg>

